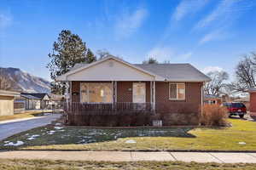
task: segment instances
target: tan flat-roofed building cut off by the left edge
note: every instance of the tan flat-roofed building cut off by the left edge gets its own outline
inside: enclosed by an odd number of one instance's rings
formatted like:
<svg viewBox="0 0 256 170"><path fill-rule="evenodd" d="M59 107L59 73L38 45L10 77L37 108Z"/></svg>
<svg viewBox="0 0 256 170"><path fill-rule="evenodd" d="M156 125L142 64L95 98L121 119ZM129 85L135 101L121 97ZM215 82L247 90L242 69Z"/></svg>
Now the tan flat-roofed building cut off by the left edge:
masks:
<svg viewBox="0 0 256 170"><path fill-rule="evenodd" d="M20 93L0 90L0 116L14 115L14 100Z"/></svg>

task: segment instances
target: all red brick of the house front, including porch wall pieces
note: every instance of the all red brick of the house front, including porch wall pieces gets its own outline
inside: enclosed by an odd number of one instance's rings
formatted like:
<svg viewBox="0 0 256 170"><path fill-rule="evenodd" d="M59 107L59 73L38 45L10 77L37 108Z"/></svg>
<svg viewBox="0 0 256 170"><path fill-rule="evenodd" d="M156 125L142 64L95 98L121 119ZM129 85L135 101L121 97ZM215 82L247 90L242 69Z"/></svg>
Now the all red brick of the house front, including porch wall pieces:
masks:
<svg viewBox="0 0 256 170"><path fill-rule="evenodd" d="M186 82L186 98L171 100L169 82L155 82L156 113L163 120L164 126L198 124L201 86L201 82ZM72 82L72 92L79 94L79 91L80 82ZM79 102L79 95L72 96L73 102ZM117 82L117 101L132 102L132 82ZM150 102L150 82L146 82L146 102Z"/></svg>

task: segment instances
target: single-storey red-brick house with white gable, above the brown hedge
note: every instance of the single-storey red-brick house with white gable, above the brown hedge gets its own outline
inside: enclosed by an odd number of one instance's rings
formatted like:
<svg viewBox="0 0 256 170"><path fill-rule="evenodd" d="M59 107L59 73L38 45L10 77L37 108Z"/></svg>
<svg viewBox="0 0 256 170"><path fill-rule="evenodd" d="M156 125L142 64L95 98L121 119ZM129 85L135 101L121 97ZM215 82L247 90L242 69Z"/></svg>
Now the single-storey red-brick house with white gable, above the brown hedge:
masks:
<svg viewBox="0 0 256 170"><path fill-rule="evenodd" d="M184 121L178 115L186 113L187 124L198 122L198 118L191 116L199 116L203 83L210 80L189 64L133 65L116 57L75 65L56 78L70 83L73 108L86 111L88 107L79 105L93 104L98 108L96 105L101 104L140 104L140 109L146 109L150 105L155 113L171 114L176 122Z"/></svg>

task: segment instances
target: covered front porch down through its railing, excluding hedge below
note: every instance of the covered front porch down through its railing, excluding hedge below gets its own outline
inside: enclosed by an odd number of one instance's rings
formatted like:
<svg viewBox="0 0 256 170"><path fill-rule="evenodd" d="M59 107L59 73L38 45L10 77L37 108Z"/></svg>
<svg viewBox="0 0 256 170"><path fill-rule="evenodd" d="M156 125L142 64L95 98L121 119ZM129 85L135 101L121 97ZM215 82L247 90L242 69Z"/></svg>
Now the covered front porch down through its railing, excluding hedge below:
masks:
<svg viewBox="0 0 256 170"><path fill-rule="evenodd" d="M154 111L155 82L70 82L69 111Z"/></svg>

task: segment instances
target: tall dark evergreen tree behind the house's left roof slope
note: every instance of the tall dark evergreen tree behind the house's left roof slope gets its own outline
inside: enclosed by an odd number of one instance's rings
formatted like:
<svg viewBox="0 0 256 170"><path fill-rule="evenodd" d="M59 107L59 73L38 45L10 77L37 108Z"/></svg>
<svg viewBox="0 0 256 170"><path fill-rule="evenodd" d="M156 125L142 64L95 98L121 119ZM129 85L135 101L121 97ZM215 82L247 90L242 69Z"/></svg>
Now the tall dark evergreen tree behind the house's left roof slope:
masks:
<svg viewBox="0 0 256 170"><path fill-rule="evenodd" d="M51 79L65 74L77 63L90 63L96 60L95 55L87 50L85 42L77 34L69 30L63 30L59 34L57 42L53 44L53 52L49 54ZM64 94L67 88L65 82L51 82L52 93Z"/></svg>

